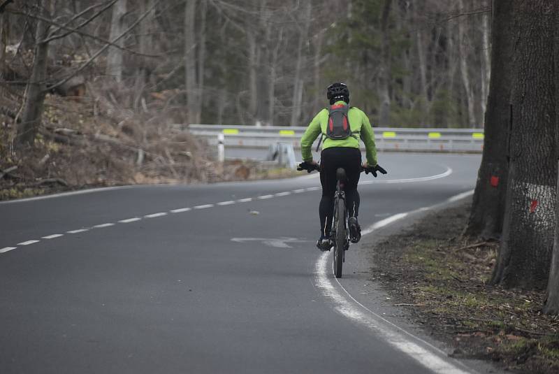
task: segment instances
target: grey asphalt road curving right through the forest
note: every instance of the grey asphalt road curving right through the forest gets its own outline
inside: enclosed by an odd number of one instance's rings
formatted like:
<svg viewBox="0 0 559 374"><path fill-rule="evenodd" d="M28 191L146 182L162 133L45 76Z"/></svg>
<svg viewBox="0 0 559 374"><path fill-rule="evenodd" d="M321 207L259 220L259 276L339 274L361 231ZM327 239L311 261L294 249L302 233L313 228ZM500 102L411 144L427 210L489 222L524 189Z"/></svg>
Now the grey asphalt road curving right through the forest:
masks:
<svg viewBox="0 0 559 374"><path fill-rule="evenodd" d="M380 154L361 225L471 190L479 161ZM468 372L345 294L366 275L338 284L314 247L318 187L305 173L0 203L0 373Z"/></svg>

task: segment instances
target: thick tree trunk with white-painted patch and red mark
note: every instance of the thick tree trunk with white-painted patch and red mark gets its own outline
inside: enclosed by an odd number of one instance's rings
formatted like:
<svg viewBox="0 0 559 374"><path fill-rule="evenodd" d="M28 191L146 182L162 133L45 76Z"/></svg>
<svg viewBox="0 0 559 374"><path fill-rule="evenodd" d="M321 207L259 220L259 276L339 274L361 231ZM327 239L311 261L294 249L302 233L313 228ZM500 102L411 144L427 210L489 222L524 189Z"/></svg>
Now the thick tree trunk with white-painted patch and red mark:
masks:
<svg viewBox="0 0 559 374"><path fill-rule="evenodd" d="M556 92L550 79L556 5L547 0L512 2L521 32L514 50L507 206L492 282L543 289L556 222Z"/></svg>

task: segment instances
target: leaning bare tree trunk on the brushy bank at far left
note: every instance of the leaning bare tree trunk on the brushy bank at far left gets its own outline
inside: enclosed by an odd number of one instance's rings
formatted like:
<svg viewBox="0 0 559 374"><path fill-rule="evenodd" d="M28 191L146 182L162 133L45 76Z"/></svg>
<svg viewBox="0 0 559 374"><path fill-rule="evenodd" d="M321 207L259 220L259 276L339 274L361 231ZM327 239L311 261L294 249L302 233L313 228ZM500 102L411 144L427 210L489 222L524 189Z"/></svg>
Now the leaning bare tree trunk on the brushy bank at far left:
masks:
<svg viewBox="0 0 559 374"><path fill-rule="evenodd" d="M48 9L50 9L50 0L45 0L41 4L42 16L50 19ZM35 136L41 125L41 117L43 116L43 103L47 93L47 59L48 59L48 43L41 42L48 35L48 22L38 20L35 33L35 59L31 76L25 89L25 98L22 107L21 122L17 124L17 132L15 134L14 146L16 150L21 150L28 146L33 146Z"/></svg>

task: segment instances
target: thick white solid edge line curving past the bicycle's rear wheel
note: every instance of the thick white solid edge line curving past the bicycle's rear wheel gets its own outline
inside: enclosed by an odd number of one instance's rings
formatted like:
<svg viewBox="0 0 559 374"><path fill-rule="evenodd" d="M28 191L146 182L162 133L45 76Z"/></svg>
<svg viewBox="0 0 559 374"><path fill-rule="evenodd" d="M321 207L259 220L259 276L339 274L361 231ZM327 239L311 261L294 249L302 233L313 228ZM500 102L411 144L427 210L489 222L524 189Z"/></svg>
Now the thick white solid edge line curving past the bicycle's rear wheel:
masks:
<svg viewBox="0 0 559 374"><path fill-rule="evenodd" d="M463 192L456 196L452 196L443 203L435 204L427 208L419 208L412 210L407 213L398 213L384 220L376 222L368 229L364 230L361 234L367 235L373 231L380 229L384 226L402 220L409 215L418 213L425 210L432 210L433 208L438 208L444 206L447 203L453 201L458 201L467 196L470 196L473 192ZM341 315L351 319L352 321L362 324L368 329L374 331L375 335L381 336L386 342L395 347L396 349L408 354L410 357L419 362L419 364L429 368L431 371L437 374L465 374L465 373L476 373L472 371L467 366L463 365L455 359L448 359L447 354L437 347L430 345L425 340L414 336L409 331L402 329L390 322L388 319L377 315L377 313L365 307L365 305L359 303L354 299L347 289L345 289L342 284L333 278L333 276L328 276L331 271L328 271L328 252L324 252L319 257L317 264L315 266L314 278L317 287L321 290L322 294L326 298L330 299L334 303L334 308ZM334 282L338 287L335 287ZM341 289L340 292L338 289Z"/></svg>

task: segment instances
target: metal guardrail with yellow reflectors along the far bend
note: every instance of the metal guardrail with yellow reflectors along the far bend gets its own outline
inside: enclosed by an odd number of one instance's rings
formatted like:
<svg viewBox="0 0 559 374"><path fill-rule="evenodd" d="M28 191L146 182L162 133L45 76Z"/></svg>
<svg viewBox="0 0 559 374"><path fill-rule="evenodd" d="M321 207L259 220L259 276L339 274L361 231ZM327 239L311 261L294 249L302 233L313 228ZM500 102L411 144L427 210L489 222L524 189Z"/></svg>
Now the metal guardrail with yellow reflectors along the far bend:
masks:
<svg viewBox="0 0 559 374"><path fill-rule="evenodd" d="M300 148L300 138L306 127L254 127L217 124L174 124L180 131L205 138L217 145L217 134L224 134L225 146L235 148L268 148L278 142L291 143ZM375 127L378 150L418 152L474 152L484 147L483 129L409 129Z"/></svg>

